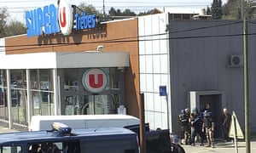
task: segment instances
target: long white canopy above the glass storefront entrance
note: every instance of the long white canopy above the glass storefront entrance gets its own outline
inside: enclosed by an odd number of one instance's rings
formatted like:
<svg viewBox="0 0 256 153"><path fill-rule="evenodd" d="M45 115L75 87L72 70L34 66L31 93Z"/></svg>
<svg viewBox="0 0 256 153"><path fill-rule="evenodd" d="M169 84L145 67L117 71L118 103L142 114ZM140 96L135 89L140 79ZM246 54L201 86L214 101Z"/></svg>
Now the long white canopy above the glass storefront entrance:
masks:
<svg viewBox="0 0 256 153"><path fill-rule="evenodd" d="M51 69L81 67L127 67L128 52L66 52L0 54L0 69Z"/></svg>

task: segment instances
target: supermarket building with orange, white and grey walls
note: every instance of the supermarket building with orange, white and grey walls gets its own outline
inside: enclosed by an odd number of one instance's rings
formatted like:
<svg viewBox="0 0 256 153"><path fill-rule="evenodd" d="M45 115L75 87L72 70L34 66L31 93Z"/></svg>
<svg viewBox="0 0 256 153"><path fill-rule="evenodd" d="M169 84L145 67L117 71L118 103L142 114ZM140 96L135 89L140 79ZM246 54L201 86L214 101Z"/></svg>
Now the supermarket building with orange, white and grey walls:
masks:
<svg viewBox="0 0 256 153"><path fill-rule="evenodd" d="M248 30L256 28L249 24ZM241 32L240 20L171 20L164 13L103 22L68 35L3 38L0 117L27 126L34 115L116 114L122 105L127 114L139 116L143 93L151 128L178 133L180 111L208 103L220 137L223 107L236 111L243 128ZM255 37L248 40L253 108ZM250 127L256 131L254 122Z"/></svg>

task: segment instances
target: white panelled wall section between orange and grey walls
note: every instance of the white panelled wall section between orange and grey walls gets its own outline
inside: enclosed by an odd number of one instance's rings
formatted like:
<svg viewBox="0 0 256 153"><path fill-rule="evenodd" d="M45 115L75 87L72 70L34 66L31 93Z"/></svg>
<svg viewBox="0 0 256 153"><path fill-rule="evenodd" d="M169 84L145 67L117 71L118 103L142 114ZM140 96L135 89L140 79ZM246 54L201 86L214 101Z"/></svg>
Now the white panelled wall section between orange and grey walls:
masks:
<svg viewBox="0 0 256 153"><path fill-rule="evenodd" d="M138 18L140 91L145 95L145 122L151 128L170 128L170 62L168 14ZM160 86L166 86L167 96L160 96ZM168 105L166 103L168 101ZM168 107L168 108L167 108ZM169 121L168 121L169 120ZM169 125L168 125L169 123Z"/></svg>

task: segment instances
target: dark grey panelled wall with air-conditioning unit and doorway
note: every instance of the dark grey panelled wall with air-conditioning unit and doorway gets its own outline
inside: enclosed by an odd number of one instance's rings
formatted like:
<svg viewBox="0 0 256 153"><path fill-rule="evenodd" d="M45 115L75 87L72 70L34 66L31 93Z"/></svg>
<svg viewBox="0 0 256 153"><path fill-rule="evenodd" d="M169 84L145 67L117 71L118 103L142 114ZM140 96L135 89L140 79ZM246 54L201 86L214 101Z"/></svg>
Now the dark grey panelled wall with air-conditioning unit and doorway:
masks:
<svg viewBox="0 0 256 153"><path fill-rule="evenodd" d="M178 131L177 114L189 107L189 91L224 92L223 107L236 111L244 128L243 66L230 67L232 54L243 54L241 20L170 21L171 103L173 131ZM248 33L256 33L248 23ZM256 37L248 36L250 126L256 132Z"/></svg>

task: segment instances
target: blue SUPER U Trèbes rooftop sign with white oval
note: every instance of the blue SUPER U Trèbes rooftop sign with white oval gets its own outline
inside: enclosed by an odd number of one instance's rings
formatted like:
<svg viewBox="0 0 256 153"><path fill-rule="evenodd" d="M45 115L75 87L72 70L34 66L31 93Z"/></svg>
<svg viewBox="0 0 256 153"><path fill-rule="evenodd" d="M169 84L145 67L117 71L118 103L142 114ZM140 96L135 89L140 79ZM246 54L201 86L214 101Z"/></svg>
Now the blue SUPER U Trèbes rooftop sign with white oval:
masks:
<svg viewBox="0 0 256 153"><path fill-rule="evenodd" d="M73 19L74 16L74 19ZM75 23L73 25L73 23ZM26 36L40 36L61 31L69 35L73 28L76 31L96 27L96 14L73 14L73 8L66 0L60 0L58 8L54 4L26 11Z"/></svg>

